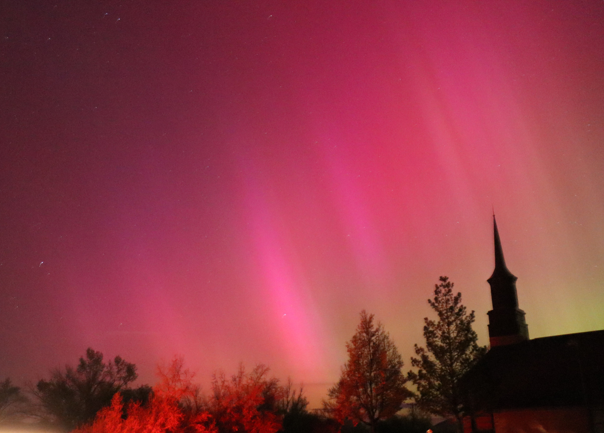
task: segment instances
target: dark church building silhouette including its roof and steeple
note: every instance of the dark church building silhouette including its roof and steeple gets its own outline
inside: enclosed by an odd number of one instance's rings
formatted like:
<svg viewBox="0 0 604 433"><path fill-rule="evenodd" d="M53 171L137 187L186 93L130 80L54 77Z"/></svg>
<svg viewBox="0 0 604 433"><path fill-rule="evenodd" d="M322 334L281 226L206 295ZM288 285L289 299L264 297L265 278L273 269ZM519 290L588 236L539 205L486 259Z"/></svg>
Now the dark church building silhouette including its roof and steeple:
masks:
<svg viewBox="0 0 604 433"><path fill-rule="evenodd" d="M461 380L464 433L604 433L604 330L530 340L495 215L493 236L490 349Z"/></svg>

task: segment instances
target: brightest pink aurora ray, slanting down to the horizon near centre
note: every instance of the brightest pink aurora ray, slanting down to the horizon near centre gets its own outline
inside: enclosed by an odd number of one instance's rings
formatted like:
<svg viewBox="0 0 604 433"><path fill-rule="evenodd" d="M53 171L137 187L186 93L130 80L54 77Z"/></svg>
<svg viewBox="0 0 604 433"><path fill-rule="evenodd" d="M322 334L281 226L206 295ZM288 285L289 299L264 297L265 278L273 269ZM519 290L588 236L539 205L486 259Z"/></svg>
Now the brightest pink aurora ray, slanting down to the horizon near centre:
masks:
<svg viewBox="0 0 604 433"><path fill-rule="evenodd" d="M284 350L289 368L307 381L317 381L326 368L322 320L313 306L304 268L296 258L297 245L289 240L289 228L280 218L278 203L271 200L270 187L262 183L251 160L240 166L250 246L264 286L260 296L268 305L259 313L269 316L271 331L278 335L278 346Z"/></svg>

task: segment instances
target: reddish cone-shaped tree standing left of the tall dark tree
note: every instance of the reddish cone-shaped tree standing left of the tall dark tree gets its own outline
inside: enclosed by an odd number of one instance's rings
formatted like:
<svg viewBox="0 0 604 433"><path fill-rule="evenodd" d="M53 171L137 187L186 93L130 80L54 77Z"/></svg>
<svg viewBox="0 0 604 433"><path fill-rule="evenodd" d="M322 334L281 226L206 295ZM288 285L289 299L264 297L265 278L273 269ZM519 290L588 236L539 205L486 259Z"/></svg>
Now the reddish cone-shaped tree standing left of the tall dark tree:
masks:
<svg viewBox="0 0 604 433"><path fill-rule="evenodd" d="M373 314L365 310L346 348L349 360L338 383L330 388L324 406L338 422L361 422L374 432L379 420L396 414L411 396L401 371L403 361L384 326L374 326Z"/></svg>

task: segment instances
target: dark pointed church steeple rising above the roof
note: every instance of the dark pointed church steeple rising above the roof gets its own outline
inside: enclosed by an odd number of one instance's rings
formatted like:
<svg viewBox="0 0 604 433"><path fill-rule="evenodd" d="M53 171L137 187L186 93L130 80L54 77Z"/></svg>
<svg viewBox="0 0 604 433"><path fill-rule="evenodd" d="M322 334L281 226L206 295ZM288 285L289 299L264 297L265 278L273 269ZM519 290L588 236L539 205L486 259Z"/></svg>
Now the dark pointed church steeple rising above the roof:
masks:
<svg viewBox="0 0 604 433"><path fill-rule="evenodd" d="M525 313L518 308L518 294L516 293L518 278L506 266L495 215L493 215L493 238L495 240L495 269L487 280L493 302L493 309L487 313L491 347L528 340Z"/></svg>

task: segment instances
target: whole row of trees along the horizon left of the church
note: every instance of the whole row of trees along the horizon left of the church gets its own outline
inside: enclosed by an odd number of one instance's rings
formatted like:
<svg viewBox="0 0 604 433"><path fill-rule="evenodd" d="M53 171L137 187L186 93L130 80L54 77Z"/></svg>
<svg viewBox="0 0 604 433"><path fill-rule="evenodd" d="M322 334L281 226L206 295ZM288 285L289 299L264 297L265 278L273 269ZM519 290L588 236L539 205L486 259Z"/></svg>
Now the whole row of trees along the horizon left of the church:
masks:
<svg viewBox="0 0 604 433"><path fill-rule="evenodd" d="M461 428L463 399L458 381L484 352L453 283L440 277L429 305L438 320L425 318L426 347L415 347L417 370L403 373L402 356L374 316L361 312L346 344L349 359L329 390L323 409L309 411L303 388L269 376L269 368L240 366L231 376L216 373L209 395L193 383L182 359L158 368L154 387L132 387L137 368L120 356L104 361L91 348L77 367L54 370L31 387L29 397L10 379L0 382L0 426L29 423L74 433L424 433L429 414L449 417ZM416 392L408 389L408 382ZM414 409L400 414L403 403Z"/></svg>

